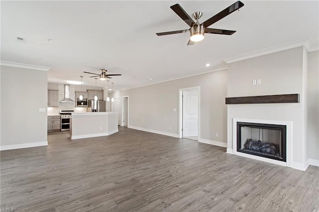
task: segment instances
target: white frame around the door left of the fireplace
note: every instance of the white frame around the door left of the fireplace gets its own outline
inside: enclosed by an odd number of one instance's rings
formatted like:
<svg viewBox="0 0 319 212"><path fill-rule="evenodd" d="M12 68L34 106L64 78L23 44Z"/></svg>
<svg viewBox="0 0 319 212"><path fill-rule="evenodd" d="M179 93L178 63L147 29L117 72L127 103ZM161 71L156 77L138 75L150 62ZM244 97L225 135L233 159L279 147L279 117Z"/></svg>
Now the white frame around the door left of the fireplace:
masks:
<svg viewBox="0 0 319 212"><path fill-rule="evenodd" d="M178 89L178 137L182 138L182 126L183 126L183 102L182 94L183 91L197 90L198 94L198 119L197 119L197 130L198 130L198 140L200 139L200 86Z"/></svg>

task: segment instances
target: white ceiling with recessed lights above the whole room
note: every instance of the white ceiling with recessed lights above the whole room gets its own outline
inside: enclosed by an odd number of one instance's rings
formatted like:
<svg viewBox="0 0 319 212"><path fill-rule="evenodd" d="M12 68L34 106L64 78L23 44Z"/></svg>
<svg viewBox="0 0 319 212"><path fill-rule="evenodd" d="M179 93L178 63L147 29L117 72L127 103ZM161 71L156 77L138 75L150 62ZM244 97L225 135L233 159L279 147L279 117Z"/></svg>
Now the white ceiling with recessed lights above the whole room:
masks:
<svg viewBox="0 0 319 212"><path fill-rule="evenodd" d="M189 33L156 35L189 28L169 8L175 3L189 15L202 11L203 22L234 2L1 1L1 60L52 67L49 82L84 76L91 86L94 78L83 71L105 68L122 74L110 82L124 89L220 67L223 59L298 40L318 44L319 1L243 0L239 11L210 26L235 34L205 34L193 46L186 45ZM106 85L98 80L99 87Z"/></svg>

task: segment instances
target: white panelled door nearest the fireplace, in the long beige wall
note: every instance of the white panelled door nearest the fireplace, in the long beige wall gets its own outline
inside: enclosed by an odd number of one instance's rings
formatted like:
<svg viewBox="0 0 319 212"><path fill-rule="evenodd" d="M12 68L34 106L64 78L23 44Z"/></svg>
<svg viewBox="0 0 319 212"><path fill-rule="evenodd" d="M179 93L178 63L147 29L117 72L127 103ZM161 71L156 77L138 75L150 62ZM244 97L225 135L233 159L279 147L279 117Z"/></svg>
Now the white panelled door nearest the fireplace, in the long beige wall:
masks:
<svg viewBox="0 0 319 212"><path fill-rule="evenodd" d="M198 136L198 93L183 91L182 137Z"/></svg>

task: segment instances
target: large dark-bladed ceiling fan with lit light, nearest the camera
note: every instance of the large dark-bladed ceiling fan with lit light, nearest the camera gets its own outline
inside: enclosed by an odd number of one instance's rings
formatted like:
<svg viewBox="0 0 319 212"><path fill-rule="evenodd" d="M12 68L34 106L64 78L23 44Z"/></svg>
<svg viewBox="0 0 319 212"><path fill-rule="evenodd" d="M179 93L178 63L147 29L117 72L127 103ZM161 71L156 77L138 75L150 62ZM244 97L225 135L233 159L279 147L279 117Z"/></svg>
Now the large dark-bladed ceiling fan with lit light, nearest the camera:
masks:
<svg viewBox="0 0 319 212"><path fill-rule="evenodd" d="M228 6L226 9L222 10L221 12L217 13L216 15L212 16L208 20L199 23L199 18L203 15L202 12L194 12L193 18L196 19L196 22L185 12L185 10L178 4L174 4L170 6L170 8L181 18L185 23L187 23L188 26L190 26L189 29L183 29L183 30L176 30L176 31L170 31L170 32L160 32L156 33L158 36L161 35L169 35L169 34L177 34L177 33L183 33L190 31L190 38L187 43L187 45L193 45L194 42L201 41L204 39L204 33L209 34L222 34L222 35L232 35L236 31L232 30L226 30L226 29L213 29L213 28L207 28L208 26L212 25L213 23L219 21L220 19L226 17L230 13L236 11L240 7L244 6L244 4L241 1L237 1L233 3L232 5Z"/></svg>

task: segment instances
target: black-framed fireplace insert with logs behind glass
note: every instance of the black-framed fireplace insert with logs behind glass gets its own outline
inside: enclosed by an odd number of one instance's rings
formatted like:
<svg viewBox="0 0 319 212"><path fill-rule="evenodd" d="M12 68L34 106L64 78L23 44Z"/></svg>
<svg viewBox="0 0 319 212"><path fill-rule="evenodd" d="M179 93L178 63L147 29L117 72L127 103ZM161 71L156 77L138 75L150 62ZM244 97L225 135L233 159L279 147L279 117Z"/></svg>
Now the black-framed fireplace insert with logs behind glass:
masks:
<svg viewBox="0 0 319 212"><path fill-rule="evenodd" d="M286 125L237 122L237 152L286 162Z"/></svg>

